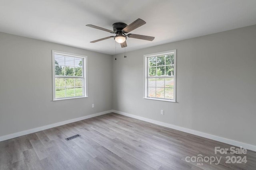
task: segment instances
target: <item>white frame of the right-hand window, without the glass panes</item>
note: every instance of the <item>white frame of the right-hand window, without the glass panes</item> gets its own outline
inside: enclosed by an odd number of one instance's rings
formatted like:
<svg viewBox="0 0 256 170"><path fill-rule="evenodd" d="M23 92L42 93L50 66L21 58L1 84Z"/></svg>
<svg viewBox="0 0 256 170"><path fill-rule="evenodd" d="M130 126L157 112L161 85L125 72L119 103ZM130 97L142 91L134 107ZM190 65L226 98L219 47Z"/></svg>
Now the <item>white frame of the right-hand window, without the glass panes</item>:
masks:
<svg viewBox="0 0 256 170"><path fill-rule="evenodd" d="M168 54L174 54L174 99L168 100L168 99L162 99L162 98L151 98L148 97L148 58L149 57L156 57L160 55L168 55ZM154 78L170 78L172 76L154 76ZM144 90L143 90L143 98L144 99L150 99L150 100L160 100L160 101L166 101L166 102L176 102L176 49L170 50L170 51L163 51L158 53L152 53L152 54L146 54L144 55Z"/></svg>

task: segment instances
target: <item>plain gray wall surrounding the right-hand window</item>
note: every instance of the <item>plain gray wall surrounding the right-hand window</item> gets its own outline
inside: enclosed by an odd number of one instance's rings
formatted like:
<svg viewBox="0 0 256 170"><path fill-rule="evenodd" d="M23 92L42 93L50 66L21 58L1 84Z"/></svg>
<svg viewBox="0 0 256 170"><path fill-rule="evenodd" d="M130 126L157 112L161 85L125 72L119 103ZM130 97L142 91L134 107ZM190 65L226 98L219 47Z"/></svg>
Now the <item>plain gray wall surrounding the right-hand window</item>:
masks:
<svg viewBox="0 0 256 170"><path fill-rule="evenodd" d="M143 99L143 55L172 49L177 103ZM256 145L255 51L253 25L117 55L113 109Z"/></svg>

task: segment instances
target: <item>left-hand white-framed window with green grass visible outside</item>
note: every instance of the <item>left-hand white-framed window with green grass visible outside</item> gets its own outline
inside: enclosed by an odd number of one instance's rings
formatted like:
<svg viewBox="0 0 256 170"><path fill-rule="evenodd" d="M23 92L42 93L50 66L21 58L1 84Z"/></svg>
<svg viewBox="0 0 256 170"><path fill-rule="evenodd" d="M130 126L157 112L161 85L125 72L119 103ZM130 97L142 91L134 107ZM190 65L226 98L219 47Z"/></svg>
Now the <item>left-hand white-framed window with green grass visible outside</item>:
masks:
<svg viewBox="0 0 256 170"><path fill-rule="evenodd" d="M87 95L87 56L52 51L53 100Z"/></svg>

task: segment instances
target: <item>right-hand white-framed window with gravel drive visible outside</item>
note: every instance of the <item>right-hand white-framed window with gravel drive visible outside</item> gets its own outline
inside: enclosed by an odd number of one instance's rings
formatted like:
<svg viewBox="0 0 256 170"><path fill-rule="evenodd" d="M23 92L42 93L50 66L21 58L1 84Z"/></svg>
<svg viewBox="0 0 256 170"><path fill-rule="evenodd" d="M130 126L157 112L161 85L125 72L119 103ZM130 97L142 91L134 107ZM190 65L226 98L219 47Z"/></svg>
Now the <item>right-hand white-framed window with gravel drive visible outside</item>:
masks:
<svg viewBox="0 0 256 170"><path fill-rule="evenodd" d="M176 102L176 50L144 55L144 98Z"/></svg>

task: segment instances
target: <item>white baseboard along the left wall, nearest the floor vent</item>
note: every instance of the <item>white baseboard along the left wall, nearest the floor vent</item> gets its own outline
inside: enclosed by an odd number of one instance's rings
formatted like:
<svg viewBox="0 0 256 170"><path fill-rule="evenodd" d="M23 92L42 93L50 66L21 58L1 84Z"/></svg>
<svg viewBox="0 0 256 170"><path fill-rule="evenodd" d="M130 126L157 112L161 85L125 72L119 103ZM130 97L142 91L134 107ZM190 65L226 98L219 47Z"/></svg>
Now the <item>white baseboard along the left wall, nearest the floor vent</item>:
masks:
<svg viewBox="0 0 256 170"><path fill-rule="evenodd" d="M26 130L26 131L12 133L10 135L1 136L0 137L0 142L1 141L5 141L7 139L12 139L12 138L15 138L15 137L20 137L20 136L27 135L27 134L30 134L30 133L35 133L35 132L42 131L42 130L45 130L45 129L50 129L52 127L57 127L57 126L65 125L65 124L72 123L72 122L75 122L75 121L89 119L91 117L96 117L96 116L104 115L104 114L111 113L111 112L113 112L113 110L103 111L103 112L100 112L100 113L94 113L94 114L91 114L91 115L87 115L87 116L83 116L83 117L78 117L78 118L70 119L70 120L66 120L66 121L61 121L61 122L58 122L58 123L53 123L53 124L42 126L42 127L36 127L34 129L29 129L29 130Z"/></svg>

